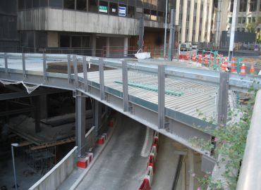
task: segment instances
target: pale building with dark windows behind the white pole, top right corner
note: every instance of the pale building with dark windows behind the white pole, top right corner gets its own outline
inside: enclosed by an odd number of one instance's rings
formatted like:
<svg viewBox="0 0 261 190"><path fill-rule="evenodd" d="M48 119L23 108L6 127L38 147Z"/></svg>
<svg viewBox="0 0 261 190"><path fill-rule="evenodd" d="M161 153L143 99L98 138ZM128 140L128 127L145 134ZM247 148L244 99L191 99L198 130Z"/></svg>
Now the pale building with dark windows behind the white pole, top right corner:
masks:
<svg viewBox="0 0 261 190"><path fill-rule="evenodd" d="M221 32L229 31L232 23L233 0L220 1L220 23L216 32L216 42L220 42ZM238 0L236 13L236 32L253 32L248 25L255 28L255 32L260 32L261 5L260 0Z"/></svg>

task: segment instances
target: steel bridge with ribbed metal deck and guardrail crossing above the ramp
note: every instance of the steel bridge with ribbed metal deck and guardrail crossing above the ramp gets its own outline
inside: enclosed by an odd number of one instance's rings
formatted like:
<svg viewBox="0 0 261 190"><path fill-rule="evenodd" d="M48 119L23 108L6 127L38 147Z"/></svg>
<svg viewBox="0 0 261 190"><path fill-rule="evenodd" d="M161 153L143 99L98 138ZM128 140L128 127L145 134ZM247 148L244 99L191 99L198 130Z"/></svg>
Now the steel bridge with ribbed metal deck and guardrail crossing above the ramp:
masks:
<svg viewBox="0 0 261 190"><path fill-rule="evenodd" d="M51 64L65 64L66 73L49 70ZM92 65L99 69L91 70ZM254 80L260 81L175 61L0 53L0 82L20 82L29 91L39 86L73 91L79 126L82 99L91 97L203 154L208 153L190 139L211 139L211 129L217 125L206 118L226 125L229 89L248 91ZM258 82L254 85L260 87ZM80 148L80 136L85 134L76 132Z"/></svg>

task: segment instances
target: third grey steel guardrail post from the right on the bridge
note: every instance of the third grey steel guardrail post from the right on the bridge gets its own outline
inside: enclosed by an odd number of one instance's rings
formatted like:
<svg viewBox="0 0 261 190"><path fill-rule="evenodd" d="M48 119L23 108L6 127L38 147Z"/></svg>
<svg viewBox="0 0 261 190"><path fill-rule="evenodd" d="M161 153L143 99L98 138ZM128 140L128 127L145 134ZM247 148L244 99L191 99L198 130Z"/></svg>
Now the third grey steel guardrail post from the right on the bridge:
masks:
<svg viewBox="0 0 261 190"><path fill-rule="evenodd" d="M123 111L128 111L128 63L122 61Z"/></svg>

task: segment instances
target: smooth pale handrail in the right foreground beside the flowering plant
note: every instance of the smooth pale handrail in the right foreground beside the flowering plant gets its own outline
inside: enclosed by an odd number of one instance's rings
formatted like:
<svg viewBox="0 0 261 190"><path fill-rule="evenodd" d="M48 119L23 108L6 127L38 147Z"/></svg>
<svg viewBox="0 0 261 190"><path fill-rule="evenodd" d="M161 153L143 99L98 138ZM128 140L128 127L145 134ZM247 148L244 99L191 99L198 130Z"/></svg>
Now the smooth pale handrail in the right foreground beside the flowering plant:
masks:
<svg viewBox="0 0 261 190"><path fill-rule="evenodd" d="M257 91L236 190L261 189L261 90Z"/></svg>

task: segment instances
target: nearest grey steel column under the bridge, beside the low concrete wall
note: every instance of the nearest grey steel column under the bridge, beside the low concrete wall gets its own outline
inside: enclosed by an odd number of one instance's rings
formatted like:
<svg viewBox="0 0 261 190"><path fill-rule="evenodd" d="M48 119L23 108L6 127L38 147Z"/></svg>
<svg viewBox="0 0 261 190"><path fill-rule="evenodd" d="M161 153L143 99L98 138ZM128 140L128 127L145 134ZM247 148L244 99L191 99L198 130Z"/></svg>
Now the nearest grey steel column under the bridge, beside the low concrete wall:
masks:
<svg viewBox="0 0 261 190"><path fill-rule="evenodd" d="M76 125L75 125L75 136L76 136L76 146L78 146L78 157L83 156L85 153L85 97L76 96L76 105L75 105L75 116L76 116Z"/></svg>

